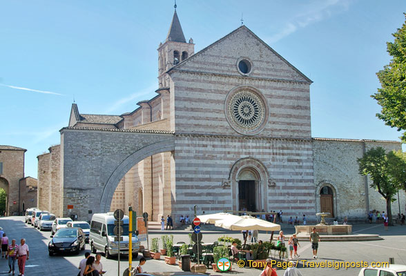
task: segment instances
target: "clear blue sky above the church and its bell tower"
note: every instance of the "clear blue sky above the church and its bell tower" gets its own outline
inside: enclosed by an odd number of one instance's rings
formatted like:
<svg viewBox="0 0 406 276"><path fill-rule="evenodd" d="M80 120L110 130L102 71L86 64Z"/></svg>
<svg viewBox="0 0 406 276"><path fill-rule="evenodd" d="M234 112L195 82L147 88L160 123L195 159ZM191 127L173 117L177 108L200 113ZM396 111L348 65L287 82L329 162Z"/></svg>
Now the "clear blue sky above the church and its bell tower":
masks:
<svg viewBox="0 0 406 276"><path fill-rule="evenodd" d="M243 14L314 81L312 135L331 138L399 140L369 96L403 12L404 0L177 0L195 52L238 28ZM73 99L82 113L121 115L156 95L157 47L172 17L171 0L0 0L0 144L28 150L26 176L37 177L37 155L59 144Z"/></svg>

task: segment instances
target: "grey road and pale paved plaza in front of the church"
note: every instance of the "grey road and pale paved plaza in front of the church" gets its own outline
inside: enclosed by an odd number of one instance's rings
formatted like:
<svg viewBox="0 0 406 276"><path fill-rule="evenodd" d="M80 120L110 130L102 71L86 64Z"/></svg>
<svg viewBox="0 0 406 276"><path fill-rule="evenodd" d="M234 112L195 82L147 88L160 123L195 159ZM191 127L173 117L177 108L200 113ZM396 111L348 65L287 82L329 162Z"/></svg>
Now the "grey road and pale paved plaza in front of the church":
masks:
<svg viewBox="0 0 406 276"><path fill-rule="evenodd" d="M23 217L2 217L0 219L0 226L11 239L26 238L26 242L30 247L30 259L26 264L26 275L77 275L79 261L83 259L84 252L90 252L90 246L86 245L86 251L82 251L79 255L56 255L53 257L48 256L48 242L50 241L50 232L39 232L32 226L23 222ZM286 235L293 233L292 226L283 225L282 229ZM320 262L387 262L389 257L394 257L396 264L406 264L406 226L390 227L389 231L384 230L381 224L360 224L354 225L354 233L369 233L379 234L383 240L369 241L369 242L320 242L320 248L317 263ZM189 230L168 230L158 231L152 230L149 235L151 238L160 237L161 235L173 235L174 243L176 242L189 242ZM202 225L203 242L214 242L222 235L229 237L238 237L242 239L241 233L229 230L204 230ZM260 233L259 239L264 241L269 240L269 233ZM301 247L298 252L300 255L300 262L308 260L313 263L310 242L300 242ZM146 244L144 244L146 246ZM120 275L124 272L128 262L126 258L122 258L120 263ZM139 257L137 258L139 259ZM106 275L118 275L117 259L101 258L104 270L107 270ZM8 265L6 259L0 260L0 274L7 274ZM134 261L134 266L137 264ZM349 268L347 270L334 268L299 268L302 275L358 275L360 268ZM147 272L158 271L180 271L179 266L170 266L164 263L163 257L161 260L148 259L144 265L144 270ZM226 273L213 273L213 270L207 270L210 275L260 275L260 270L255 268L239 268L234 265L231 272ZM278 270L278 275L283 275L284 270Z"/></svg>

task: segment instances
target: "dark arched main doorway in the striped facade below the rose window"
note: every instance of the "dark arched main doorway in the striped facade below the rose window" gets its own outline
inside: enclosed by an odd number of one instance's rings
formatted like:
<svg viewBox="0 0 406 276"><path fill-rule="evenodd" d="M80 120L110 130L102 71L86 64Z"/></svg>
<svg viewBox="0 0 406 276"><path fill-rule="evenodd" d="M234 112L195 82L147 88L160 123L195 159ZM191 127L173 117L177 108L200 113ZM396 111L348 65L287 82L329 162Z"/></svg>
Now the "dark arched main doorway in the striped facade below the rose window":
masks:
<svg viewBox="0 0 406 276"><path fill-rule="evenodd" d="M258 209L258 172L245 168L238 175L238 207L239 210L255 212Z"/></svg>

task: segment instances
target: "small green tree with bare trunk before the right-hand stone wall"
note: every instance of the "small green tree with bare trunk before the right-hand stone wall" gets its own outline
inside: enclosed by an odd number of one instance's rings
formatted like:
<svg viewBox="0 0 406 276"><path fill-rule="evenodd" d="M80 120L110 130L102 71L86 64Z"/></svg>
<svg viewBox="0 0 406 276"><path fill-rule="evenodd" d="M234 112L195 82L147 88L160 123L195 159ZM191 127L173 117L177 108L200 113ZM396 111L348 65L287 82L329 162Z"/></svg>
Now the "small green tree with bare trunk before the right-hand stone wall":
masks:
<svg viewBox="0 0 406 276"><path fill-rule="evenodd" d="M394 156L393 152L387 154L385 149L378 147L371 148L362 158L357 159L360 174L371 177L371 187L378 190L378 193L385 199L388 222L391 226L393 225L391 203L395 200L394 196L400 188L396 179L391 175L391 172L394 171L394 168L391 168L394 166L392 162L398 161Z"/></svg>

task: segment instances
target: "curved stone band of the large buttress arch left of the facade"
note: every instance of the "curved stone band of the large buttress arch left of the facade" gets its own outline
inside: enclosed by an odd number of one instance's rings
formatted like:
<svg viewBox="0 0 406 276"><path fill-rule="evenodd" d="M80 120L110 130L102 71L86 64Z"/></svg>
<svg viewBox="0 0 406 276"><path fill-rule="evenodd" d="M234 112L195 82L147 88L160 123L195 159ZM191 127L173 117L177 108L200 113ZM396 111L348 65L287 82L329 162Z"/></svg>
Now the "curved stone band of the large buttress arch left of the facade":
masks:
<svg viewBox="0 0 406 276"><path fill-rule="evenodd" d="M126 172L133 168L133 166L139 161L144 160L146 157L155 155L161 152L168 152L175 150L175 141L160 141L155 144L145 146L139 150L133 152L124 161L122 161L114 172L108 178L106 185L104 186L103 194L100 199L100 209L102 213L106 213L110 210L111 201L113 199L113 194L117 188L119 181L126 175Z"/></svg>

